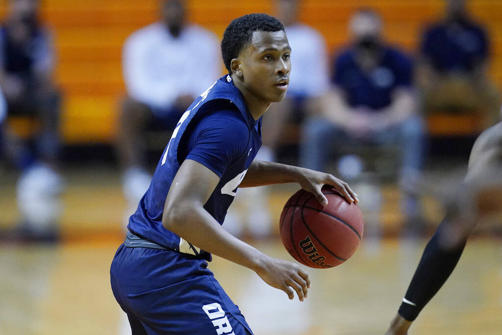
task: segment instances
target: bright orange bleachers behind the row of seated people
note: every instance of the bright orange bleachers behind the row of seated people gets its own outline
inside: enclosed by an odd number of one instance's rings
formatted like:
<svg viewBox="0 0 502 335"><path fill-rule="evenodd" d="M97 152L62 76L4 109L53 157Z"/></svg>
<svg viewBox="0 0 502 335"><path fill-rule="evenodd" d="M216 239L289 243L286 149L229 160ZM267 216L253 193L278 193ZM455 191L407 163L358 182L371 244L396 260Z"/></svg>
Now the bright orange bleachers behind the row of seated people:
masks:
<svg viewBox="0 0 502 335"><path fill-rule="evenodd" d="M110 143L116 132L117 100L124 92L121 48L135 30L157 20L158 0L44 0L42 19L55 33L56 80L64 92L61 129L66 144ZM410 52L422 28L441 16L439 0L304 0L301 20L318 29L328 49L347 43L346 23L360 7L378 10L385 36ZM502 0L473 0L473 16L488 30L491 73L502 82ZM221 37L231 19L253 12L273 13L269 0L191 0L188 16ZM6 5L0 7L0 16ZM439 125L441 132L441 125Z"/></svg>

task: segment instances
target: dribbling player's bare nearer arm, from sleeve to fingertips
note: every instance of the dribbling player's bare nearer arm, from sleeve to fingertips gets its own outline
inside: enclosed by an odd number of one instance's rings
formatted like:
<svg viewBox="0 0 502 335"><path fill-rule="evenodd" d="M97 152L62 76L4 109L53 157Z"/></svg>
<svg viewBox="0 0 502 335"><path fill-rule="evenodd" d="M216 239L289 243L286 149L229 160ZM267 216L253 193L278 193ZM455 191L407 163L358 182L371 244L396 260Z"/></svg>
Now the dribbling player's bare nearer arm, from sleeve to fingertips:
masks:
<svg viewBox="0 0 502 335"><path fill-rule="evenodd" d="M303 301L310 287L306 272L294 263L269 257L233 237L204 209L219 180L219 176L203 164L186 159L166 198L164 227L198 248L254 270L267 284L285 291L290 299L294 298L294 289Z"/></svg>

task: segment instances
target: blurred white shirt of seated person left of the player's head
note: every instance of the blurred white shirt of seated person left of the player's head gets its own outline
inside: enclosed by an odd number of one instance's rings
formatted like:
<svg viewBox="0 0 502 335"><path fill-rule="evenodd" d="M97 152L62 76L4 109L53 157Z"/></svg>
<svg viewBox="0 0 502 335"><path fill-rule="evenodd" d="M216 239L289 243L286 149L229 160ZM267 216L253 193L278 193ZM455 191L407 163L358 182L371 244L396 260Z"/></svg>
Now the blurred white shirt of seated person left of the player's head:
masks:
<svg viewBox="0 0 502 335"><path fill-rule="evenodd" d="M127 39L122 57L128 93L158 108L169 108L180 94L200 95L220 73L216 36L195 25L175 38L162 23L151 24Z"/></svg>

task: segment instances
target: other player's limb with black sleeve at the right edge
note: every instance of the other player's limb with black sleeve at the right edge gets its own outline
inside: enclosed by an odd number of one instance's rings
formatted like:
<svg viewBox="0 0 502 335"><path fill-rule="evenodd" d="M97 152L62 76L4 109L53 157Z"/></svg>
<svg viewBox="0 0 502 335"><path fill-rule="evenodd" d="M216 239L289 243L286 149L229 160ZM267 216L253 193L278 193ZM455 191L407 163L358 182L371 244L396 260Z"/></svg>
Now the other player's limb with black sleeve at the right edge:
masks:
<svg viewBox="0 0 502 335"><path fill-rule="evenodd" d="M411 323L455 268L467 238L484 214L502 209L502 123L476 140L461 191L427 244L387 334L406 334Z"/></svg>

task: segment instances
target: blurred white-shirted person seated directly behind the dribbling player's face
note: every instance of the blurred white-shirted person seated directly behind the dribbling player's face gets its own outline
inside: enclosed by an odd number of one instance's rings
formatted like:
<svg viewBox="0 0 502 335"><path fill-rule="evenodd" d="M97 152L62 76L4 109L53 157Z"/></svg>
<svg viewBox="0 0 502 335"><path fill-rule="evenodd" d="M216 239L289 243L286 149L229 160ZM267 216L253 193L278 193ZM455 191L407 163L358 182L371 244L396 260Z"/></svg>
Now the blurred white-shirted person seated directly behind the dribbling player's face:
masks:
<svg viewBox="0 0 502 335"><path fill-rule="evenodd" d="M298 21L301 0L275 0L276 16L286 28L291 46L291 76L286 98L273 103L264 116L263 146L258 158L275 161L283 129L288 122L298 122L305 115L318 113L320 97L329 87L326 46L315 29ZM225 219L225 227L241 236L242 223L247 222L248 234L264 237L271 231L267 187L241 189ZM237 209L241 215L237 215Z"/></svg>

